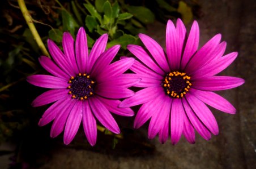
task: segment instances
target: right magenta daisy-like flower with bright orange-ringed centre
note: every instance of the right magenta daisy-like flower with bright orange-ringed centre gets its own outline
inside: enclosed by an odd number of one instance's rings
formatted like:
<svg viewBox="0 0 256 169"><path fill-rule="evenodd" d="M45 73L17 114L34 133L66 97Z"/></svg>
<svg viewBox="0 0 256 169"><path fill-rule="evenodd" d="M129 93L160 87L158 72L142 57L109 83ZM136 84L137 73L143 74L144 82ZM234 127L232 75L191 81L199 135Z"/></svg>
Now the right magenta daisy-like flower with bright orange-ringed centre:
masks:
<svg viewBox="0 0 256 169"><path fill-rule="evenodd" d="M194 129L206 140L211 133L217 135L216 119L206 104L225 113L234 114L236 109L223 97L212 91L227 90L240 86L244 80L237 77L217 76L237 57L237 52L225 55L225 42L221 35L210 39L200 50L199 27L194 21L189 36L180 19L176 27L168 21L166 53L152 38L139 34L147 48L127 46L142 63L135 61L130 68L134 77L142 80L135 87L144 89L125 99L120 107L142 104L136 114L134 127L139 128L151 118L148 137L159 134L161 143L170 136L176 144L183 134L189 143L195 143Z"/></svg>

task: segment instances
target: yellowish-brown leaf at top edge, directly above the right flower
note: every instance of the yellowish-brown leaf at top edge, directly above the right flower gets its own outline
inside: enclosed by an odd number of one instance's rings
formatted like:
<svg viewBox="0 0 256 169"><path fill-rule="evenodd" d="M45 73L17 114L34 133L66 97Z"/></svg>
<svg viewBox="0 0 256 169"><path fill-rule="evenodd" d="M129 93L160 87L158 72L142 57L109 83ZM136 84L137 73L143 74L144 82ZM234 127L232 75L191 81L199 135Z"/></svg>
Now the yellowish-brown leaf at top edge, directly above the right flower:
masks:
<svg viewBox="0 0 256 169"><path fill-rule="evenodd" d="M190 21L193 19L191 7L189 7L185 2L180 1L178 3L177 11L181 14L184 24L190 23Z"/></svg>

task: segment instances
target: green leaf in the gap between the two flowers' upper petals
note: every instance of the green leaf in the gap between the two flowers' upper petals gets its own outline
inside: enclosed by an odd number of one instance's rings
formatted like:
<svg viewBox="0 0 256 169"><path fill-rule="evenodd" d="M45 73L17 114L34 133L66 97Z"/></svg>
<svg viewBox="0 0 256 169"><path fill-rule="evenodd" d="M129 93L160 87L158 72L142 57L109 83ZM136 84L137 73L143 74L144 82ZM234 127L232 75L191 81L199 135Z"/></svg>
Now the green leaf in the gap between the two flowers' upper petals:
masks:
<svg viewBox="0 0 256 169"><path fill-rule="evenodd" d="M122 48L126 49L126 46L129 44L133 44L136 41L136 38L130 34L124 34L121 37L114 39L113 41L109 42L106 47L112 47L114 45L121 45Z"/></svg>

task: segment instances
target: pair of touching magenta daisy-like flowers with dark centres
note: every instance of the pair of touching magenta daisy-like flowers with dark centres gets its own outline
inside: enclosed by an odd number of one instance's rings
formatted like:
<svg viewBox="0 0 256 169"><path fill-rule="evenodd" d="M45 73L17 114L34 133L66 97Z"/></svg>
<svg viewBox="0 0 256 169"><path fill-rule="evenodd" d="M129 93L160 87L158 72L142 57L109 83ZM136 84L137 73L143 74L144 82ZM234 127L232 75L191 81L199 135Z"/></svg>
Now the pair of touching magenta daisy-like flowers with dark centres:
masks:
<svg viewBox="0 0 256 169"><path fill-rule="evenodd" d="M187 34L180 19L176 26L169 20L166 51L146 34L139 34L139 38L144 47L127 46L136 59L122 56L115 62L120 45L105 50L108 34L101 35L90 52L84 28L79 29L75 41L70 33L63 34L63 51L49 39L53 60L41 56L39 62L52 75L27 78L35 86L51 89L32 103L32 106L53 103L42 115L39 126L53 121L50 136L56 137L64 131L64 143L69 144L82 123L93 146L97 121L114 134L120 134L111 113L131 117L135 113L130 107L140 105L134 128L150 120L149 139L158 134L161 143L170 137L172 144L176 144L184 135L193 144L195 131L206 140L211 134L217 135L219 128L207 105L225 113L236 112L229 101L213 91L244 83L241 78L216 75L236 59L237 52L224 55L226 42L220 42L220 34L198 50L197 21ZM126 73L127 70L133 73ZM130 87L141 90L134 92Z"/></svg>

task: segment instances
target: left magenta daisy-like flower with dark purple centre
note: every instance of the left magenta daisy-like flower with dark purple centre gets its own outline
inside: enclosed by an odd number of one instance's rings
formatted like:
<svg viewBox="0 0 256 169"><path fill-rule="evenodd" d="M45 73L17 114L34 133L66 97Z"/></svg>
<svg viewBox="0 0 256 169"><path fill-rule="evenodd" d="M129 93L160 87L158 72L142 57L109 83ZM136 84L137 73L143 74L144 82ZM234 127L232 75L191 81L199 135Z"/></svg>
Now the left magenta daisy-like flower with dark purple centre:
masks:
<svg viewBox="0 0 256 169"><path fill-rule="evenodd" d="M134 115L130 108L118 108L121 103L118 99L134 95L127 87L140 80L123 74L134 63L134 59L111 63L120 45L105 51L107 41L108 35L101 35L88 55L84 28L79 29L75 42L70 33L63 34L64 54L49 39L48 48L54 61L45 56L41 56L39 61L53 75L31 75L27 78L35 86L52 88L38 96L32 106L55 102L42 115L39 125L44 126L54 120L51 137L58 136L65 128L65 144L72 141L81 121L89 143L95 145L96 119L108 130L119 134L120 128L110 112L123 116Z"/></svg>

